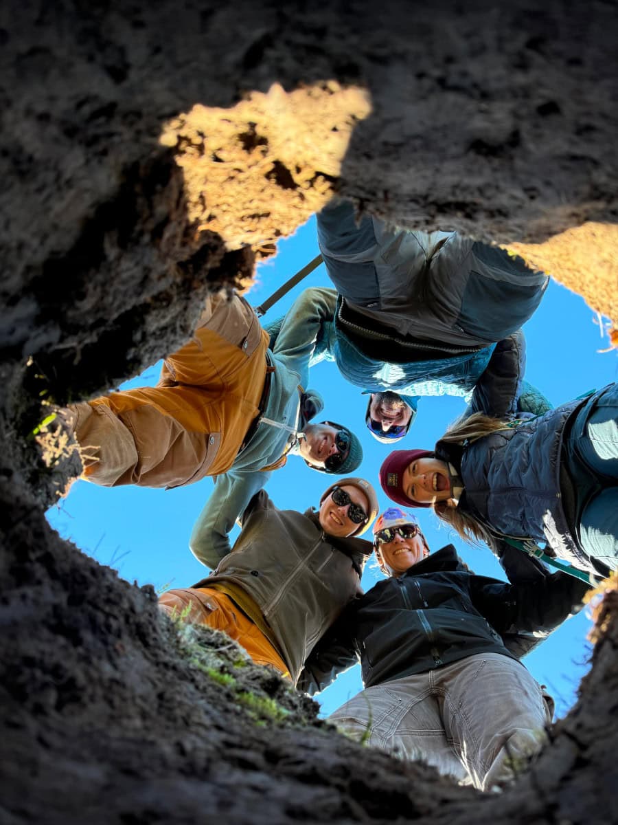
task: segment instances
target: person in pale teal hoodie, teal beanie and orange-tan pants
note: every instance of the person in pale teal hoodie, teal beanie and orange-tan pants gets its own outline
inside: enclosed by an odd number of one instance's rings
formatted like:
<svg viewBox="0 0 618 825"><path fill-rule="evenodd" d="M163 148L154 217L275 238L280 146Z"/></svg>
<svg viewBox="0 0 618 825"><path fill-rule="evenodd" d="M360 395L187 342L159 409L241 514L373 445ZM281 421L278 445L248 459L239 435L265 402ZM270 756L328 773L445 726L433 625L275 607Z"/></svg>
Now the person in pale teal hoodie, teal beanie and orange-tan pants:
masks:
<svg viewBox="0 0 618 825"><path fill-rule="evenodd" d="M304 389L311 343L283 328L277 347L268 345L245 299L209 295L194 337L166 358L156 387L63 410L81 447L83 477L104 487L174 488L217 476L200 536L225 555L236 517L288 455L325 473L357 469L363 448L353 432L311 423L323 407L319 394Z"/></svg>

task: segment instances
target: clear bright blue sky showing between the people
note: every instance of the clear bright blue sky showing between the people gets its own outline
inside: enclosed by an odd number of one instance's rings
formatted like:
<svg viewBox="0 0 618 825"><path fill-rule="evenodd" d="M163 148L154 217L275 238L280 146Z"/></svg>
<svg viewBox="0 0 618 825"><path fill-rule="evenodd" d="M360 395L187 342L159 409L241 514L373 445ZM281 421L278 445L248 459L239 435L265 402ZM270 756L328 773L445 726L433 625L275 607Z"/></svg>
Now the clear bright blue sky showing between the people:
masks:
<svg viewBox="0 0 618 825"><path fill-rule="evenodd" d="M257 283L247 295L250 303L262 303L318 251L315 219L311 219L292 238L280 242L276 257L258 268ZM275 304L266 314L265 323L283 314L293 299L311 285L330 285L323 265ZM555 405L618 380L615 354L597 352L606 347L606 338L601 337L595 320L583 299L552 281L540 309L524 328L527 380ZM153 365L121 386L155 384L159 370L160 365ZM365 457L357 474L376 486L384 510L389 502L377 483L377 471L389 448L375 441L364 427L366 397L363 400L360 389L346 384L330 362L311 370L310 384L325 398L323 417L349 424L361 437ZM400 446L431 449L463 408L461 398L423 398L417 420ZM311 471L299 457L292 456L285 468L274 473L267 489L277 507L304 511L317 506L328 483L327 476ZM152 584L157 591L190 587L207 573L207 568L190 553L188 540L212 488L212 479L169 491L106 489L79 481L73 484L68 497L48 511L47 517L63 538L101 564L117 569L129 582ZM420 521L432 550L452 542L475 573L503 578L502 569L488 549L464 544L446 526L438 526L430 513L421 513ZM368 589L379 577L379 571L370 563L363 587ZM588 610L583 610L524 660L537 681L554 695L557 715L564 715L573 705L578 683L588 669L589 627ZM359 668L354 667L318 697L322 713L332 712L361 688Z"/></svg>

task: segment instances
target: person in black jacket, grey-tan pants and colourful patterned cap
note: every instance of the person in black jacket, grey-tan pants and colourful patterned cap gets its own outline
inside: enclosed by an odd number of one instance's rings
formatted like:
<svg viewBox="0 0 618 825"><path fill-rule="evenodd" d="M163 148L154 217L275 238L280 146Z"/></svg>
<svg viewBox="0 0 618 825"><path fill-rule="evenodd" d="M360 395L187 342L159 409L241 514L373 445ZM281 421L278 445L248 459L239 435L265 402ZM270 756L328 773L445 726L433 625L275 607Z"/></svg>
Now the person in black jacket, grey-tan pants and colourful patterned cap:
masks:
<svg viewBox="0 0 618 825"><path fill-rule="evenodd" d="M298 688L315 695L360 662L365 689L330 722L369 747L492 790L541 749L552 716L508 639L554 629L589 586L565 573L525 585L477 576L452 544L430 554L419 522L400 507L377 519L373 535L386 581L346 607Z"/></svg>

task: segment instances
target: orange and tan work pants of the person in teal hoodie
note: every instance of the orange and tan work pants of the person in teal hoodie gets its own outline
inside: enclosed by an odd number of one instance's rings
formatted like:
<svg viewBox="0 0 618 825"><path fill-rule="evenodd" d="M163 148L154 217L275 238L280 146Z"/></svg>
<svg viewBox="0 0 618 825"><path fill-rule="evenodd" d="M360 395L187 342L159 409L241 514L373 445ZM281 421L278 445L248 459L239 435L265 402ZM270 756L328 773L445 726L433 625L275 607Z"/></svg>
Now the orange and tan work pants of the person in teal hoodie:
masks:
<svg viewBox="0 0 618 825"><path fill-rule="evenodd" d="M105 487L178 487L225 473L259 412L268 344L245 299L210 296L156 387L69 405L85 477Z"/></svg>

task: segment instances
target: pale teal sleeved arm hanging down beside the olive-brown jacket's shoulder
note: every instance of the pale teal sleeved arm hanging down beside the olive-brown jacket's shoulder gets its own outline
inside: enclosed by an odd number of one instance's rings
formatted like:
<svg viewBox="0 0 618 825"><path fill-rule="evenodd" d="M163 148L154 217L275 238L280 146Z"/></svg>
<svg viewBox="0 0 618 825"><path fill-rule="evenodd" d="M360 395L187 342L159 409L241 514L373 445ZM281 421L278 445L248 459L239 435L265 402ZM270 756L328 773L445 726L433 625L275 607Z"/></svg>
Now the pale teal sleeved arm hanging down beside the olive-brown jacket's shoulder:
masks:
<svg viewBox="0 0 618 825"><path fill-rule="evenodd" d="M246 509L272 473L234 474L232 471L219 475L212 495L204 505L191 532L189 547L195 558L207 567L218 563L231 551L228 535L234 522ZM259 505L260 502L255 502Z"/></svg>

